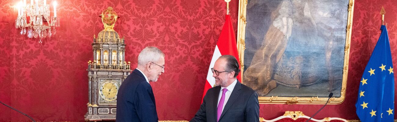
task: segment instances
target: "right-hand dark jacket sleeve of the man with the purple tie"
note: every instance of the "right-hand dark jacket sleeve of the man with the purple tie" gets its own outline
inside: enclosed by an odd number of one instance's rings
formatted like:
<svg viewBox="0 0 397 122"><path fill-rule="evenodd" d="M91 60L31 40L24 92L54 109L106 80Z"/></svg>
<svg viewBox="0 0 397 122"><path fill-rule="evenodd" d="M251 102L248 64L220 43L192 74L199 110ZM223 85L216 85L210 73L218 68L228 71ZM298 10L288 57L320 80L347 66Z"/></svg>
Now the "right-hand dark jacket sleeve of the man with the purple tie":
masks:
<svg viewBox="0 0 397 122"><path fill-rule="evenodd" d="M245 122L259 122L259 101L256 92L253 92L248 99L245 119Z"/></svg>

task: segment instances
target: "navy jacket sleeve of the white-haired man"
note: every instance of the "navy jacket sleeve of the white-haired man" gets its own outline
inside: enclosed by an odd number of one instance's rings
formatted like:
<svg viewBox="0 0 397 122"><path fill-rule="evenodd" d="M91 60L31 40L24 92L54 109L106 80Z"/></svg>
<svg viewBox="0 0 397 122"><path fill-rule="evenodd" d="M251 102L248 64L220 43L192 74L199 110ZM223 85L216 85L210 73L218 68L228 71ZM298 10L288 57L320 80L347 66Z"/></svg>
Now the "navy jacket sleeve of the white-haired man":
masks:
<svg viewBox="0 0 397 122"><path fill-rule="evenodd" d="M158 122L154 95L148 84L139 84L135 93L136 111L141 122Z"/></svg>

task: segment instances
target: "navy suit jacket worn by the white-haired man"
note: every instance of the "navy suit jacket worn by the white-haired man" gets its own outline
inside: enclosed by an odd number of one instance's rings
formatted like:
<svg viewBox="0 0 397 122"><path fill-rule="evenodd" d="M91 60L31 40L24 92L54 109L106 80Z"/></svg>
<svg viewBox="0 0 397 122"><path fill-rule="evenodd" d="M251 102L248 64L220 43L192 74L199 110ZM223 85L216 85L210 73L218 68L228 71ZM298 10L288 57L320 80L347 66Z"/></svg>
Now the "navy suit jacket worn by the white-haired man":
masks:
<svg viewBox="0 0 397 122"><path fill-rule="evenodd" d="M137 69L121 83L116 113L117 122L158 122L152 87Z"/></svg>

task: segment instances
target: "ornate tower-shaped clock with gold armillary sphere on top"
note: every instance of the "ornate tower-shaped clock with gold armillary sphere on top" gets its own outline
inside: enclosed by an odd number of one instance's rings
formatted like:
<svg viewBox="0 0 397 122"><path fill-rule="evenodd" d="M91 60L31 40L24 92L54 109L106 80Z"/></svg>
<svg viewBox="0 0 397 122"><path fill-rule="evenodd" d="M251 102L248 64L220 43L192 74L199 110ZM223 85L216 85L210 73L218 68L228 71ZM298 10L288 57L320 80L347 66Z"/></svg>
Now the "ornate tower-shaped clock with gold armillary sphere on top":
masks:
<svg viewBox="0 0 397 122"><path fill-rule="evenodd" d="M88 62L88 112L85 121L116 120L117 91L130 74L130 62L124 61L124 38L113 30L119 18L112 7L99 15L105 29L93 45L94 61Z"/></svg>

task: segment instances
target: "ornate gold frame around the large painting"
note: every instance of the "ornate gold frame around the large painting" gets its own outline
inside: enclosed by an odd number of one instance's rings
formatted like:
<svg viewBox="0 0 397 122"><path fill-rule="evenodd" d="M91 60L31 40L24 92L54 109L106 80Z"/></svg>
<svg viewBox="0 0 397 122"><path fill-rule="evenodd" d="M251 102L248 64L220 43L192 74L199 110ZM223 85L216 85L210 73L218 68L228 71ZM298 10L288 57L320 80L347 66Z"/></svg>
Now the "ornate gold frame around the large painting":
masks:
<svg viewBox="0 0 397 122"><path fill-rule="evenodd" d="M340 89L340 97L331 97L330 102L328 104L340 104L344 101L346 95L346 84L347 84L347 71L349 66L349 52L350 52L350 40L351 40L351 27L353 21L353 8L354 8L354 0L348 0L349 4L346 5L347 9L347 21L346 23L346 38L345 38L345 46L344 50L342 48L341 52L344 53L343 59L343 72L342 81L341 81L341 89ZM245 84L244 79L244 52L246 50L246 27L247 27L247 4L248 0L240 0L239 1L239 14L238 14L238 27L237 27L237 50L239 51L239 59L241 62L241 82ZM333 7L333 6L330 6ZM263 6L262 6L263 8ZM357 92L357 91L353 91ZM327 95L328 96L328 95ZM328 100L328 97L319 97L319 96L308 96L308 97L285 97L285 96L265 96L258 98L259 103L261 104L324 104Z"/></svg>

